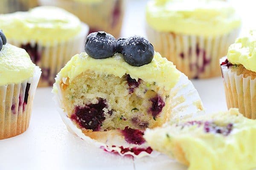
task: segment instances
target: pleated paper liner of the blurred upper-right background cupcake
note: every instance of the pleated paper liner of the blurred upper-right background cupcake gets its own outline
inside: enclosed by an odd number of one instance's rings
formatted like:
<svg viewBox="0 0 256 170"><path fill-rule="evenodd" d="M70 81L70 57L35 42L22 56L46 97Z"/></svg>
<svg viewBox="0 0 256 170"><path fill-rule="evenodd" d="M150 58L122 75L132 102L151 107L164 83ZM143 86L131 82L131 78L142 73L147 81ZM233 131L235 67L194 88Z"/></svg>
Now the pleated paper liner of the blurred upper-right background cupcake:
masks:
<svg viewBox="0 0 256 170"><path fill-rule="evenodd" d="M221 75L219 59L226 55L240 29L214 38L159 32L150 26L146 31L155 50L189 78L209 78Z"/></svg>

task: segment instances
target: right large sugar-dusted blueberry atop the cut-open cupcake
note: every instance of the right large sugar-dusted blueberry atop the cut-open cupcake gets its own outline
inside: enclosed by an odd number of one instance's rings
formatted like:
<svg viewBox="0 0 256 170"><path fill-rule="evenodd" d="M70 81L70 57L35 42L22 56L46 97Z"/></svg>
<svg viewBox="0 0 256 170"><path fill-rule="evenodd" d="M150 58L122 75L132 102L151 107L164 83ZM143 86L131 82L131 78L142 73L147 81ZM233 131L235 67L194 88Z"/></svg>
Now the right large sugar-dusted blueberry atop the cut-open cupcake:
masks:
<svg viewBox="0 0 256 170"><path fill-rule="evenodd" d="M122 54L129 65L142 66L152 61L154 47L144 37L134 36L125 40Z"/></svg>

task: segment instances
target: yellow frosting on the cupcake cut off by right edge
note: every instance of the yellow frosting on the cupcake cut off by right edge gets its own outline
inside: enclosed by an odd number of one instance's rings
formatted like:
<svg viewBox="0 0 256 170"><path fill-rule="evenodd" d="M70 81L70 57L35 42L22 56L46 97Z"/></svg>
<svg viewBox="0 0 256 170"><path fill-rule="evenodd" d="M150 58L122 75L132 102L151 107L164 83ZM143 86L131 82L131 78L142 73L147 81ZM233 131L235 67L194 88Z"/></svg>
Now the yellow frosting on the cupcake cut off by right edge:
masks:
<svg viewBox="0 0 256 170"><path fill-rule="evenodd" d="M227 58L232 64L241 64L256 72L256 30L250 31L250 36L236 39L228 48Z"/></svg>

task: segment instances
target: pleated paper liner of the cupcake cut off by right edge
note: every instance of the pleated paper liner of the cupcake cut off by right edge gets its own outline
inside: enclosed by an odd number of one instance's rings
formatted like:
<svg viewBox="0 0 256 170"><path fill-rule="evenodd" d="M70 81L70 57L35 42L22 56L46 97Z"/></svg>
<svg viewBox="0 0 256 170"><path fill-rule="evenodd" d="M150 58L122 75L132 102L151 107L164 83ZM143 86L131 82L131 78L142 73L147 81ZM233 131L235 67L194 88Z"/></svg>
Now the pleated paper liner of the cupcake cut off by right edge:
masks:
<svg viewBox="0 0 256 170"><path fill-rule="evenodd" d="M224 62L227 57L220 59ZM224 80L224 89L228 108L239 108L245 117L256 119L256 79L244 78L243 74L237 75L227 66L221 65Z"/></svg>

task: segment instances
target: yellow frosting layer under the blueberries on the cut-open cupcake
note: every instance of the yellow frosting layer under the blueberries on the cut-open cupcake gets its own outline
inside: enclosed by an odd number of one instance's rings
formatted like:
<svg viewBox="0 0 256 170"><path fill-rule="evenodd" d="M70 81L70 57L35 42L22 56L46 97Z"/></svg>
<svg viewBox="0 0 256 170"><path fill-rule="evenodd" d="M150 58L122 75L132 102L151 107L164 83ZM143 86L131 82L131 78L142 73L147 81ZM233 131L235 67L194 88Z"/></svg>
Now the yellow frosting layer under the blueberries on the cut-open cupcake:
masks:
<svg viewBox="0 0 256 170"><path fill-rule="evenodd" d="M125 74L130 74L133 79L140 78L146 82L157 82L166 90L173 88L180 77L180 71L176 69L175 65L157 52L155 52L151 63L140 67L129 65L119 53L106 59L94 59L86 53L81 53L73 56L58 75L69 78L71 82L79 74L88 70L94 71L96 74L113 74L120 78Z"/></svg>

